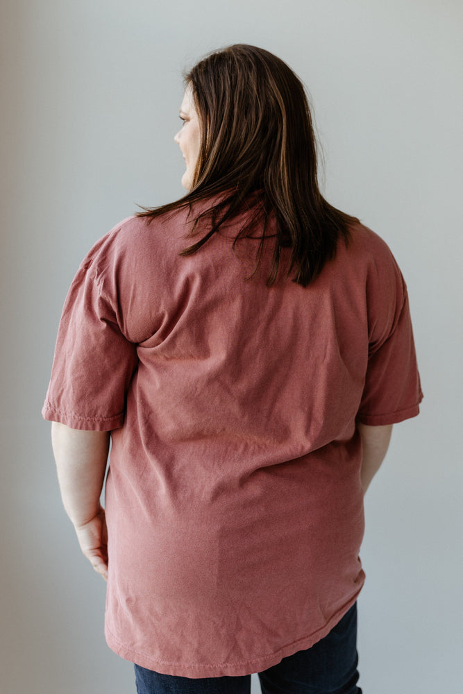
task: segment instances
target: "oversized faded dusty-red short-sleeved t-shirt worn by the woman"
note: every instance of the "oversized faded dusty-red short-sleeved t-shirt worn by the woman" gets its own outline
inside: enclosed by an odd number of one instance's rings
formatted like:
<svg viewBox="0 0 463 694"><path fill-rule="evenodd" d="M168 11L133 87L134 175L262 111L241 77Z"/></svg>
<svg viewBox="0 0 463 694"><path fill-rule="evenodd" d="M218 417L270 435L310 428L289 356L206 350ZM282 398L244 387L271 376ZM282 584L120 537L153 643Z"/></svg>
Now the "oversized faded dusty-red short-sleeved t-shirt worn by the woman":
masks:
<svg viewBox="0 0 463 694"><path fill-rule="evenodd" d="M402 421L422 397L380 237L356 224L309 287L269 288L267 255L246 280L258 242L232 251L242 221L190 257L185 211L96 243L43 409L111 431L106 638L167 675L248 675L328 634L364 582L355 422Z"/></svg>

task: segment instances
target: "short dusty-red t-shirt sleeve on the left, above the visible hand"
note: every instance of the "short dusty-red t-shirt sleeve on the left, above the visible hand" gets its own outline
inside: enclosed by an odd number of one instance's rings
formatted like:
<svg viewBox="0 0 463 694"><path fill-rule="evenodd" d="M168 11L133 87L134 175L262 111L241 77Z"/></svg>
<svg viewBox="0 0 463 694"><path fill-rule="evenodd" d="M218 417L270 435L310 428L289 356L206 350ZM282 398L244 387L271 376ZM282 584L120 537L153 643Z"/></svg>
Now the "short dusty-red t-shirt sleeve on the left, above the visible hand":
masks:
<svg viewBox="0 0 463 694"><path fill-rule="evenodd" d="M45 419L90 431L121 427L137 351L119 322L117 294L87 257L62 311Z"/></svg>

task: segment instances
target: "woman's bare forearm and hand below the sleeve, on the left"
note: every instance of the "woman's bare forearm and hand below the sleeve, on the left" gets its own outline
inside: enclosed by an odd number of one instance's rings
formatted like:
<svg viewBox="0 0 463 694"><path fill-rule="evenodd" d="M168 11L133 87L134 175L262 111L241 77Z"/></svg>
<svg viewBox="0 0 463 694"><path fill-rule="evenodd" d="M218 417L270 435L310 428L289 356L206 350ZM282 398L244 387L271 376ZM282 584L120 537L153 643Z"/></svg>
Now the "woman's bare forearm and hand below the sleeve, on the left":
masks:
<svg viewBox="0 0 463 694"><path fill-rule="evenodd" d="M62 502L74 524L83 554L108 579L108 533L101 491L108 462L110 432L81 431L51 424L51 443Z"/></svg>

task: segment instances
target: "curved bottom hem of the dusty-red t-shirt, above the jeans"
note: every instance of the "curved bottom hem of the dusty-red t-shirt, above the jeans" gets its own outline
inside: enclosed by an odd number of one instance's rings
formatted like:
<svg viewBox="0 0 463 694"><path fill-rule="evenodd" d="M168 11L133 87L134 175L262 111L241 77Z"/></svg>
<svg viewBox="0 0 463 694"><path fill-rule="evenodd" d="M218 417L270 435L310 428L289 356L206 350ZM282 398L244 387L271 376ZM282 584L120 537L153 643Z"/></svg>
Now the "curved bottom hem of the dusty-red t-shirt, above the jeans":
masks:
<svg viewBox="0 0 463 694"><path fill-rule="evenodd" d="M356 593L355 597L351 598L351 600L344 605L342 610L338 611L324 627L318 629L314 634L299 638L297 641L293 641L292 643L283 646L283 648L280 648L276 652L247 661L239 661L235 663L195 664L179 662L173 663L156 660L155 658L149 656L149 654L134 650L133 648L128 648L123 643L120 643L114 634L110 632L108 625L105 627L106 643L108 644L109 648L121 658L131 661L132 663L136 663L142 668L155 670L155 672L159 672L161 675L175 675L176 677L190 677L192 679L225 676L242 677L243 675L252 675L255 672L267 670L267 668L278 665L283 658L294 655L294 653L300 650L312 648L314 643L317 643L317 641L320 641L321 638L327 636L331 629L337 625L337 623L344 617L346 612L351 609L355 603L355 600L357 600L357 597L358 593Z"/></svg>

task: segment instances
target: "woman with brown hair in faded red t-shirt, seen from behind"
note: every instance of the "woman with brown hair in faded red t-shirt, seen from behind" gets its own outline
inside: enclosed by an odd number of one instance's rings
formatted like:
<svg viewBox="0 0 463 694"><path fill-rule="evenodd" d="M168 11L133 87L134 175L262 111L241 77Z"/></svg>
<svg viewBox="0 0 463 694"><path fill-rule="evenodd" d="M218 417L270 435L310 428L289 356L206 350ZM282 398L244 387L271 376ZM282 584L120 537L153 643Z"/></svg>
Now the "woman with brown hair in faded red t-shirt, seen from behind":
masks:
<svg viewBox="0 0 463 694"><path fill-rule="evenodd" d="M405 282L321 196L284 62L230 46L186 87L187 194L100 239L65 303L62 498L140 694L360 692L363 496L422 397Z"/></svg>

